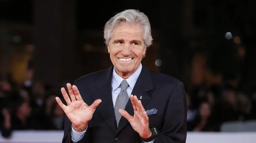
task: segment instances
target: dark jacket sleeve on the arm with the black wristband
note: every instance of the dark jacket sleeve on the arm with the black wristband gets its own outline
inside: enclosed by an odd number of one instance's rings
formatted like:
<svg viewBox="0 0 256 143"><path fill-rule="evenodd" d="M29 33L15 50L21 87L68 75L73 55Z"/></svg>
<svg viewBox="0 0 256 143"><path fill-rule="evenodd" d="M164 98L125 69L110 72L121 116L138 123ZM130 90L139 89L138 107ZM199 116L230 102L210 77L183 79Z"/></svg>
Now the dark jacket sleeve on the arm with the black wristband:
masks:
<svg viewBox="0 0 256 143"><path fill-rule="evenodd" d="M157 129L155 143L186 143L187 138L187 99L182 82L171 92L162 130Z"/></svg>

